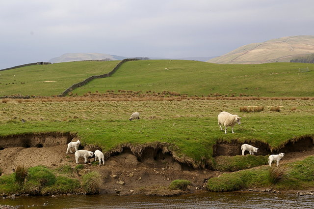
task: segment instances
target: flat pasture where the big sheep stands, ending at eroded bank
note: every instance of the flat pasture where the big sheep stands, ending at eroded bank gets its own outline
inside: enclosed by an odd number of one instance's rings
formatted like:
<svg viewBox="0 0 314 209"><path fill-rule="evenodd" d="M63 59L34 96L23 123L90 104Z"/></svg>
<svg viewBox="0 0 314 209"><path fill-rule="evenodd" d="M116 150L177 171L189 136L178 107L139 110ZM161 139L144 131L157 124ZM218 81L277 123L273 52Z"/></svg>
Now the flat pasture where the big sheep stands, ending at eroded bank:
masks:
<svg viewBox="0 0 314 209"><path fill-rule="evenodd" d="M240 113L241 106L264 106L259 113ZM270 111L281 106L281 112ZM314 100L76 101L0 103L0 136L33 132L73 132L83 144L108 151L121 144L167 142L179 157L196 164L212 161L217 140L259 140L278 148L294 137L314 133ZM235 134L220 131L217 115L242 117ZM132 112L140 120L129 121ZM22 123L21 119L26 119Z"/></svg>

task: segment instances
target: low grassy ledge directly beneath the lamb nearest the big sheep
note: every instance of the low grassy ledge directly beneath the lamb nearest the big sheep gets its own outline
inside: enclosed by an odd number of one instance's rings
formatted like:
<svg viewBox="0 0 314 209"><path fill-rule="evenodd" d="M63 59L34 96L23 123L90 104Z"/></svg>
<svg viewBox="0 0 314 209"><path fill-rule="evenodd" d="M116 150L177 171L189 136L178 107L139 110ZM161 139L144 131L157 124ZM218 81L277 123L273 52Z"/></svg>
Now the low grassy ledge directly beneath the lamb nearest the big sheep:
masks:
<svg viewBox="0 0 314 209"><path fill-rule="evenodd" d="M215 157L214 168L217 171L239 171L256 166L267 165L268 156L236 155Z"/></svg>

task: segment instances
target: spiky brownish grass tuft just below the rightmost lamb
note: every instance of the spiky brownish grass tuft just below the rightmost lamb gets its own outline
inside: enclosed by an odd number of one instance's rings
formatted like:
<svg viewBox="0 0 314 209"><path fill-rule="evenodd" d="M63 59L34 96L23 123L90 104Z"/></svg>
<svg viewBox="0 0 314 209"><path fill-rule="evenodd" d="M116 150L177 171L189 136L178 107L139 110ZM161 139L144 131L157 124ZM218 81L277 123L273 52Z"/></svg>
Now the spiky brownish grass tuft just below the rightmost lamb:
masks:
<svg viewBox="0 0 314 209"><path fill-rule="evenodd" d="M288 177L288 171L290 170L290 165L287 163L279 164L278 166L272 165L268 169L268 181L270 183L277 183L281 179Z"/></svg>

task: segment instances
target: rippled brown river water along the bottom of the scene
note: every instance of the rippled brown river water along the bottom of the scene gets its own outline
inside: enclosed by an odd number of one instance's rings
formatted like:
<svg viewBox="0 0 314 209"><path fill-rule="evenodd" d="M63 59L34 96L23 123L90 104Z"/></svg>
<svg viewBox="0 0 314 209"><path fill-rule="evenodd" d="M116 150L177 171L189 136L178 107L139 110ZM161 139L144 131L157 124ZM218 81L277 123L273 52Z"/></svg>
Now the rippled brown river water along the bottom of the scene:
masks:
<svg viewBox="0 0 314 209"><path fill-rule="evenodd" d="M21 209L314 209L314 196L262 192L201 192L177 197L103 194L20 197L0 200L0 204L23 205Z"/></svg>

